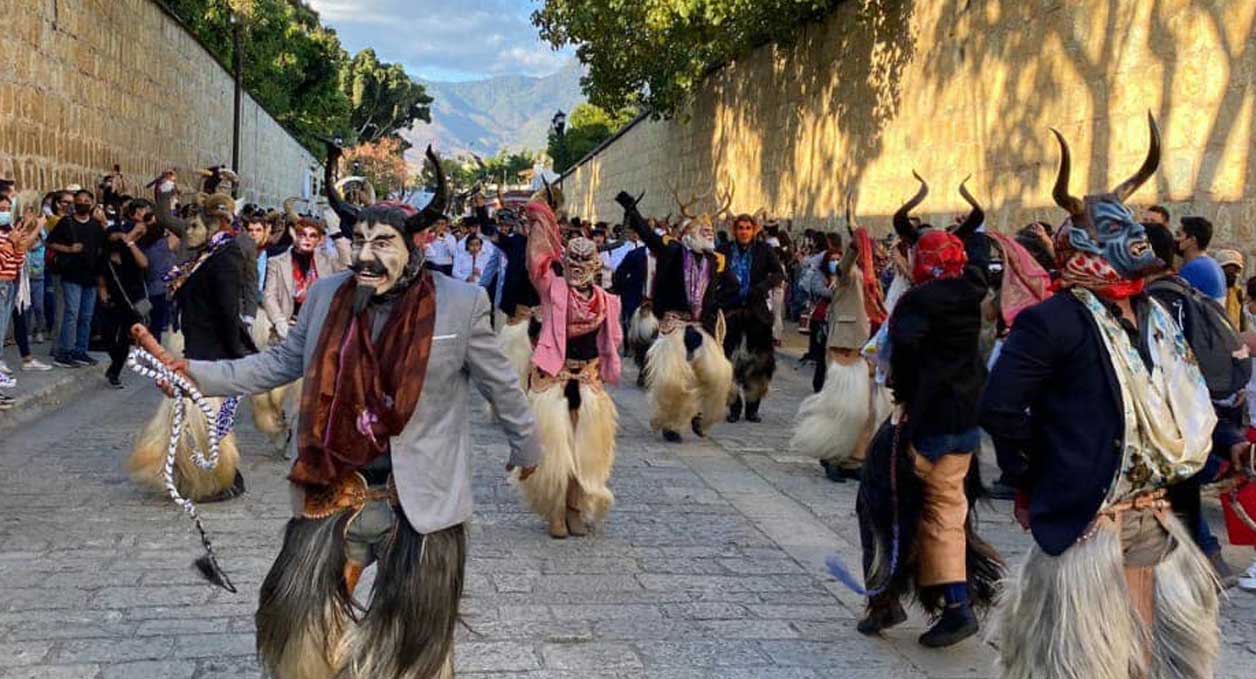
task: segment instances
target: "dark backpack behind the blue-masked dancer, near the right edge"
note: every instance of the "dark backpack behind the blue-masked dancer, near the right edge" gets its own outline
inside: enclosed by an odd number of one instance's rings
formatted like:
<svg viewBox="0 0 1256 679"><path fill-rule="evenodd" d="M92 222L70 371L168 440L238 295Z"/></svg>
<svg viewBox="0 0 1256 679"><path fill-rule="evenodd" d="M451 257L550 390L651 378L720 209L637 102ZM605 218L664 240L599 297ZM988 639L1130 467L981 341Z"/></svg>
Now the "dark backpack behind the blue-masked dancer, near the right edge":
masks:
<svg viewBox="0 0 1256 679"><path fill-rule="evenodd" d="M1169 311L1182 314L1173 320L1182 326L1213 400L1226 400L1247 385L1251 358L1225 307L1176 276L1153 281L1147 291L1162 301L1164 296L1181 301L1181 306L1171 302L1176 309Z"/></svg>

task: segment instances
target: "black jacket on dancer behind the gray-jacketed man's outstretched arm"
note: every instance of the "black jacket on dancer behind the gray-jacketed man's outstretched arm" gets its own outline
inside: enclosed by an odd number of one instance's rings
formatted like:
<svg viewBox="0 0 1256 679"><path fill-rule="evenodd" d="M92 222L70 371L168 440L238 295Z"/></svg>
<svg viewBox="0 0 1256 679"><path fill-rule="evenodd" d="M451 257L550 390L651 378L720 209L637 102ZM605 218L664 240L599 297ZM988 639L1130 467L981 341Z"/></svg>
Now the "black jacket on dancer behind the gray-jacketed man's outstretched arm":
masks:
<svg viewBox="0 0 1256 679"><path fill-rule="evenodd" d="M239 359L256 353L240 319L244 252L234 243L210 256L178 289L183 356Z"/></svg>

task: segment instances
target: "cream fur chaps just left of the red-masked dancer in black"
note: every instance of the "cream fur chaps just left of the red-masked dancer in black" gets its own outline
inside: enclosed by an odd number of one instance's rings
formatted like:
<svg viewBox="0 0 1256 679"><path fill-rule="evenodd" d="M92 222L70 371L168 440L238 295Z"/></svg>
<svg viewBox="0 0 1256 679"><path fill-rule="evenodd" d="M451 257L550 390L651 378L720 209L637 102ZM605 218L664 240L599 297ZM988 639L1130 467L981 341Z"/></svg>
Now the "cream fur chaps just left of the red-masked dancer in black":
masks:
<svg viewBox="0 0 1256 679"><path fill-rule="evenodd" d="M798 408L790 448L808 457L840 464L870 441L877 423L889 417L889 390L872 379L868 361L829 361L824 388Z"/></svg>

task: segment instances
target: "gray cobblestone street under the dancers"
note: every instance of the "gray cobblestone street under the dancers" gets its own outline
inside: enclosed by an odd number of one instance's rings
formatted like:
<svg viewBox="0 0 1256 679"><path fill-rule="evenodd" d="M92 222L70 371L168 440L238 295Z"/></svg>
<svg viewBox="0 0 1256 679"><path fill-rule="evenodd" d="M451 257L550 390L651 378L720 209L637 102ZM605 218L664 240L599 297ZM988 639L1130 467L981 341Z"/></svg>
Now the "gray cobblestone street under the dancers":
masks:
<svg viewBox="0 0 1256 679"><path fill-rule="evenodd" d="M834 551L858 564L855 484L834 484L788 451L809 390L810 368L796 365L781 360L762 424L720 424L710 439L681 446L649 433L627 369L614 390L617 503L600 531L580 540L550 540L524 508L502 472L504 437L477 407L458 675L992 676L993 651L981 641L918 646L918 612L885 639L855 633L860 599L823 566ZM128 379L126 390L88 390L0 444L0 676L259 676L252 612L289 516L286 464L245 412L249 492L202 507L240 594L201 582L190 567L200 553L191 523L122 471L158 402L156 389ZM1215 501L1208 511L1223 536ZM1005 502L983 510L982 532L1011 562L1029 545ZM1251 561L1250 550L1228 556L1235 566ZM1256 676L1256 596L1232 590L1223 616L1218 676Z"/></svg>

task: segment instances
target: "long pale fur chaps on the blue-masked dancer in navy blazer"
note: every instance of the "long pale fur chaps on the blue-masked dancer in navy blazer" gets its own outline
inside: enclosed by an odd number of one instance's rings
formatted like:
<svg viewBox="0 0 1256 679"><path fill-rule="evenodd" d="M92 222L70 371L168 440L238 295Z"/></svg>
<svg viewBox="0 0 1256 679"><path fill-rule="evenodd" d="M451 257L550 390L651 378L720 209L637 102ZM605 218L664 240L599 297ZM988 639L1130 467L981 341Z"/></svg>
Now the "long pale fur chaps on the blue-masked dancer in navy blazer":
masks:
<svg viewBox="0 0 1256 679"><path fill-rule="evenodd" d="M1218 584L1182 522L1164 512L1171 550L1150 567L1150 625L1125 580L1119 526L1100 518L1060 556L1036 546L1005 585L999 668L1005 679L1199 679L1221 648Z"/></svg>

